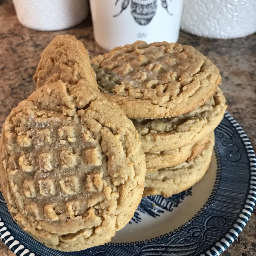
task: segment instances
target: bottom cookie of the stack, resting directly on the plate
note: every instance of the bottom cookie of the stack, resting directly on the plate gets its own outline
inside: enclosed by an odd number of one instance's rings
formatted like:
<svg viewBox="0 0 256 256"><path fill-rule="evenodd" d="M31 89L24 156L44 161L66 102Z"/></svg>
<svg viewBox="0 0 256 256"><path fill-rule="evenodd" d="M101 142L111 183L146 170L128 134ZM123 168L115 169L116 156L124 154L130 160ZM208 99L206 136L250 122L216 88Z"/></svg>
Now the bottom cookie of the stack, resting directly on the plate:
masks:
<svg viewBox="0 0 256 256"><path fill-rule="evenodd" d="M147 173L143 196L162 195L168 198L198 183L209 169L213 145L214 136L209 147L194 160Z"/></svg>

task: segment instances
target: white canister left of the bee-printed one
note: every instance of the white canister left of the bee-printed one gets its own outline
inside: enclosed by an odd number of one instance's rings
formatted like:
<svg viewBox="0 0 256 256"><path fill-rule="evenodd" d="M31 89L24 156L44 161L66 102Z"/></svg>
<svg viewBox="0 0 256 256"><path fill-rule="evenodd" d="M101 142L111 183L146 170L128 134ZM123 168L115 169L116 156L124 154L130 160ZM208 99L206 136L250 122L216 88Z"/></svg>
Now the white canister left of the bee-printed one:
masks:
<svg viewBox="0 0 256 256"><path fill-rule="evenodd" d="M88 15L87 0L13 0L23 26L40 31L68 29Z"/></svg>

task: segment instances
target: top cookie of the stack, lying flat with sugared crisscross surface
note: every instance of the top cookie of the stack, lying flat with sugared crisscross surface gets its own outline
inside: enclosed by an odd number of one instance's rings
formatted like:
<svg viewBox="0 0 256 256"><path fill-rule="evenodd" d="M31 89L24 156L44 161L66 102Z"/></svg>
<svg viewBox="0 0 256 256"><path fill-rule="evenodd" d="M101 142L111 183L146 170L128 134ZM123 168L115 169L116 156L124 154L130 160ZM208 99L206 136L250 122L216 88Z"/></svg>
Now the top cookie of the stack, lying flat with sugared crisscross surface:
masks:
<svg viewBox="0 0 256 256"><path fill-rule="evenodd" d="M218 68L195 48L137 41L92 59L99 89L129 118L163 118L203 105L221 82Z"/></svg>

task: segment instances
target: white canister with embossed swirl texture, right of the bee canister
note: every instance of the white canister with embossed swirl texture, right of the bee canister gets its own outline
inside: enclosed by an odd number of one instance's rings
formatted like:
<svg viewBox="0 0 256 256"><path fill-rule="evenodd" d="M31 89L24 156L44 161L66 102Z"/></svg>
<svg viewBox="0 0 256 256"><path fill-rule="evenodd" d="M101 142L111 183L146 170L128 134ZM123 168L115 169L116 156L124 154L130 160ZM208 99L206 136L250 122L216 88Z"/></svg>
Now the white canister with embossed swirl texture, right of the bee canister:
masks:
<svg viewBox="0 0 256 256"><path fill-rule="evenodd" d="M256 32L256 0L184 0L181 29L207 38Z"/></svg>

